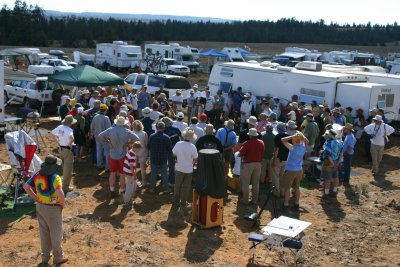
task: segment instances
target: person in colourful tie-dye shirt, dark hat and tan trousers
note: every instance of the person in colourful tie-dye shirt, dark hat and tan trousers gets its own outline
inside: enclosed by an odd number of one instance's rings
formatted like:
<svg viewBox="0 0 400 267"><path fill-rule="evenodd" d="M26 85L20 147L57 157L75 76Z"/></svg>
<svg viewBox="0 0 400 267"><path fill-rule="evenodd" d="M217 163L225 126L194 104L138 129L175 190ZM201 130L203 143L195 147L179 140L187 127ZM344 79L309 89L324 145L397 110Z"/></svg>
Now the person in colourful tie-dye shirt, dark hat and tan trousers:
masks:
<svg viewBox="0 0 400 267"><path fill-rule="evenodd" d="M62 181L57 170L62 164L61 159L48 155L39 172L33 175L25 184L24 189L36 203L36 217L39 222L42 265L47 265L51 252L53 263L61 265L68 261L62 248L63 221L62 210L65 196Z"/></svg>

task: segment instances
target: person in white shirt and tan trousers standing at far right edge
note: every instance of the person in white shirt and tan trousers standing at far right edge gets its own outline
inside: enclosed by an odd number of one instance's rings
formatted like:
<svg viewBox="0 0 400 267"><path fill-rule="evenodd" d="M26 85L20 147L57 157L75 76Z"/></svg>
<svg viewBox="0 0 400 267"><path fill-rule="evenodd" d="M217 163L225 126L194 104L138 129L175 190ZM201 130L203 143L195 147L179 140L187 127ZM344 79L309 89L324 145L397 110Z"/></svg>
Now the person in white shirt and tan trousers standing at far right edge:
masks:
<svg viewBox="0 0 400 267"><path fill-rule="evenodd" d="M377 174L385 144L389 141L388 136L394 133L394 128L384 123L381 115L375 115L372 123L364 127L364 131L371 137L372 173Z"/></svg>

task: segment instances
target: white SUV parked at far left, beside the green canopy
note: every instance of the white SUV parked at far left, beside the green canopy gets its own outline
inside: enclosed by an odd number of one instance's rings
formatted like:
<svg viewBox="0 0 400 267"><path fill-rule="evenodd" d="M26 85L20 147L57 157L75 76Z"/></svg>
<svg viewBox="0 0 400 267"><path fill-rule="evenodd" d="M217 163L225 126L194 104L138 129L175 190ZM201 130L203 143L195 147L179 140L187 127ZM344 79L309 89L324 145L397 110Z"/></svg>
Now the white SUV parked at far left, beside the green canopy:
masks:
<svg viewBox="0 0 400 267"><path fill-rule="evenodd" d="M47 81L47 77L37 77L33 81L15 80L4 86L4 101L21 103L26 108L43 107L55 113L60 105L64 89L57 83Z"/></svg>

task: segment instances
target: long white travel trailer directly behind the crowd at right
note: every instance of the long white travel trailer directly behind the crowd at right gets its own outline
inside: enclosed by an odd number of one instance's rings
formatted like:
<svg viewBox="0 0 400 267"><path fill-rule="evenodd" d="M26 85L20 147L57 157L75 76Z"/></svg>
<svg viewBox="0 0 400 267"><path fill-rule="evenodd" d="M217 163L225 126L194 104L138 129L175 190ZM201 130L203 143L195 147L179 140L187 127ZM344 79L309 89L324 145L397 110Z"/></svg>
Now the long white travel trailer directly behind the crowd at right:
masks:
<svg viewBox="0 0 400 267"><path fill-rule="evenodd" d="M300 62L296 67L283 67L271 62L230 62L214 65L208 85L213 93L219 89L227 93L241 86L245 92L251 90L258 97L271 94L290 99L297 94L299 101L306 103L326 102L334 106L340 102L354 110L379 106L386 114L391 114L390 119L397 119L400 85L369 82L365 74L322 71L319 62ZM384 106L382 101L386 98L389 100ZM390 98L393 98L393 104Z"/></svg>

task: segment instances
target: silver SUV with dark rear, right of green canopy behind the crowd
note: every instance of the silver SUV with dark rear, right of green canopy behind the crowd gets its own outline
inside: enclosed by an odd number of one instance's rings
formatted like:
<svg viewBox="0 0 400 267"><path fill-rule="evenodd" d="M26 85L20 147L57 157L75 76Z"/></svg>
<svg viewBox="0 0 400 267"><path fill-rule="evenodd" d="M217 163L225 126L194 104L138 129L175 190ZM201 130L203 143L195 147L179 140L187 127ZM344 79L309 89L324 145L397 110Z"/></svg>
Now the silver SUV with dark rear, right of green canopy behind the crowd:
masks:
<svg viewBox="0 0 400 267"><path fill-rule="evenodd" d="M176 90L182 90L182 96L186 99L187 90L192 88L188 79L181 76L168 75L168 74L152 74L152 73L132 73L126 76L125 82L131 86L137 87L138 90L143 85L147 86L148 92L154 94L160 88L160 84L164 86L169 95L175 94Z"/></svg>

